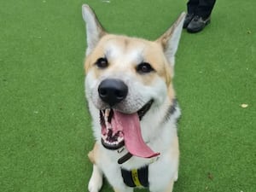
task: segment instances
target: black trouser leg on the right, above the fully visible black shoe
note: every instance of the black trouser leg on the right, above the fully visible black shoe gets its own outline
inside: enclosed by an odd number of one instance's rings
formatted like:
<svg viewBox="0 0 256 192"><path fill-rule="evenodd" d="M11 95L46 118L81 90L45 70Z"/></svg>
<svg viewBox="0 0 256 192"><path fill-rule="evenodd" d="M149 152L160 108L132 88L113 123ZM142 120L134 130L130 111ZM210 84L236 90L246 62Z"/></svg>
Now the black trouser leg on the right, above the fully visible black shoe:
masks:
<svg viewBox="0 0 256 192"><path fill-rule="evenodd" d="M195 14L206 19L211 15L215 2L216 0L199 0L199 5L195 11Z"/></svg>

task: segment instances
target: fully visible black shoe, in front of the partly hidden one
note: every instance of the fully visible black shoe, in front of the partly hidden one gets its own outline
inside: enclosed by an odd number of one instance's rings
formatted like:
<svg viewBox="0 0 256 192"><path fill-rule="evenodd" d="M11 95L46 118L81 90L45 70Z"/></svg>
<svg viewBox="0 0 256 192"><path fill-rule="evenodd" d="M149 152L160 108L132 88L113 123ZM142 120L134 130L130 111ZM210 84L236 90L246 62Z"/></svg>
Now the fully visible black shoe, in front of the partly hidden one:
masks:
<svg viewBox="0 0 256 192"><path fill-rule="evenodd" d="M189 22L187 26L188 32L201 32L207 24L211 21L210 16L207 19L203 19L201 16L195 15L195 17Z"/></svg>

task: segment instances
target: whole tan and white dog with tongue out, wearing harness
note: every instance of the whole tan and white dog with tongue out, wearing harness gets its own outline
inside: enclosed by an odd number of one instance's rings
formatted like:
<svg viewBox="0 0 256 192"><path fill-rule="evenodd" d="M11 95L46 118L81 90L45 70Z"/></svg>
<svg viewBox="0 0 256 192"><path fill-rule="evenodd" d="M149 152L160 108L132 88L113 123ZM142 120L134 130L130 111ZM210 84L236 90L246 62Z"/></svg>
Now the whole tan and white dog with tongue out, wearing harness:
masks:
<svg viewBox="0 0 256 192"><path fill-rule="evenodd" d="M115 192L148 187L171 192L178 172L177 106L172 78L183 13L160 38L148 41L106 32L88 5L85 92L96 144L89 191L103 175Z"/></svg>

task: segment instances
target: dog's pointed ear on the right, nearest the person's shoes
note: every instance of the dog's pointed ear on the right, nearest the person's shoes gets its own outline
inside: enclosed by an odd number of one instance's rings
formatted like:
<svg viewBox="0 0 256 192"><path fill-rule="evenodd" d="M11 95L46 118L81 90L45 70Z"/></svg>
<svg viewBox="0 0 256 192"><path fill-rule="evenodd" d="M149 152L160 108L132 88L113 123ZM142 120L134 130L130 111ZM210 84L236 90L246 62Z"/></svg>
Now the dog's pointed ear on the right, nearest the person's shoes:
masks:
<svg viewBox="0 0 256 192"><path fill-rule="evenodd" d="M177 46L181 33L183 30L183 22L185 19L185 13L183 12L175 21L175 23L156 41L161 44L165 51L167 60L174 67L175 54L177 52Z"/></svg>

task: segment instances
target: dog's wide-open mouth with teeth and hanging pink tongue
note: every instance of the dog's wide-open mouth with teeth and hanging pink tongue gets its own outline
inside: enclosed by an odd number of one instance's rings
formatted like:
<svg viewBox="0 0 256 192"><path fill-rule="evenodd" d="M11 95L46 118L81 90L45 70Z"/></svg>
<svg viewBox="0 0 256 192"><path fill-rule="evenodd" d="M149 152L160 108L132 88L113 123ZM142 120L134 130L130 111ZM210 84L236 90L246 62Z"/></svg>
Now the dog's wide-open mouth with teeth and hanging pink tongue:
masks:
<svg viewBox="0 0 256 192"><path fill-rule="evenodd" d="M111 150L125 146L131 154L139 157L158 155L144 143L140 129L140 120L153 102L150 100L136 113L121 113L113 108L100 110L102 145Z"/></svg>

